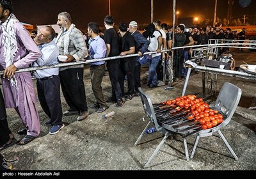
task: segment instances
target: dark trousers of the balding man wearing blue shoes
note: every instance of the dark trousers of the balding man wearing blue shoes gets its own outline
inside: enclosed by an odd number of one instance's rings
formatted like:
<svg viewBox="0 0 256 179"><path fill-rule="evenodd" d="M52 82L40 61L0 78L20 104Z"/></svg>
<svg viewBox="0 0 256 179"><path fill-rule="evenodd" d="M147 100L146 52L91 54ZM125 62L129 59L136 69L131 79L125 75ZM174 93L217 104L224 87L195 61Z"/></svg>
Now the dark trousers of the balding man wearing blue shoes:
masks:
<svg viewBox="0 0 256 179"><path fill-rule="evenodd" d="M37 95L44 113L51 120L52 125L61 125L62 107L60 99L60 77L36 81Z"/></svg>

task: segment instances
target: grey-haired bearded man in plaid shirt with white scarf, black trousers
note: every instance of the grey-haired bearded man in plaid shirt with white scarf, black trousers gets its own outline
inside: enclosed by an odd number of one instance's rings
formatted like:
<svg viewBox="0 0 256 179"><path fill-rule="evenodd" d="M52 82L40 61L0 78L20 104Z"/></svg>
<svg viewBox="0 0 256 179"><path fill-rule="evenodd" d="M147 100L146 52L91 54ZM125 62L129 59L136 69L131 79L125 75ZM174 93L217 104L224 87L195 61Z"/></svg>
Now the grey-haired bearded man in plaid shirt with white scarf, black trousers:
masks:
<svg viewBox="0 0 256 179"><path fill-rule="evenodd" d="M68 57L62 63L80 61L88 55L83 33L72 24L72 19L67 12L58 15L57 24L61 27L61 32L56 38L56 44L60 55ZM84 65L65 66L60 68L60 82L62 93L69 106L63 113L65 116L79 114L78 121L88 117L88 107L84 89Z"/></svg>

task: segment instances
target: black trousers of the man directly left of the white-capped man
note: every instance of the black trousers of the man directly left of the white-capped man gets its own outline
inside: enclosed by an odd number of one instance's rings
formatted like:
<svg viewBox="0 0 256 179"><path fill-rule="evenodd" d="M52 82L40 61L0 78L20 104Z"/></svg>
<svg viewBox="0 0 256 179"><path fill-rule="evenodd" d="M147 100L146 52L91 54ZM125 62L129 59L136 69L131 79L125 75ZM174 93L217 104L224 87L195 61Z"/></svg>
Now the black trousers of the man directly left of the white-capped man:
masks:
<svg viewBox="0 0 256 179"><path fill-rule="evenodd" d="M128 82L127 95L132 95L134 93L134 65L136 62L135 60L136 60L135 58L120 59L121 68L118 76L118 81L119 81L123 96L125 95L125 91L124 91L125 75L127 75L127 82Z"/></svg>

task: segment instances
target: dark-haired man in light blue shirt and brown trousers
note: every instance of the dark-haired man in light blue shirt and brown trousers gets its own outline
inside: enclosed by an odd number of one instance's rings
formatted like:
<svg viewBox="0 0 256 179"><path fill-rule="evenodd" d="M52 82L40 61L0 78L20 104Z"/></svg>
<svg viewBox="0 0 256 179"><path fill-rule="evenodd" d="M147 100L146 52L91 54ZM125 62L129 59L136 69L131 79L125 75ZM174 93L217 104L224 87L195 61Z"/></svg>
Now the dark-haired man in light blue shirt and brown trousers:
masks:
<svg viewBox="0 0 256 179"><path fill-rule="evenodd" d="M105 58L107 47L102 38L99 36L99 24L96 22L90 22L88 24L88 36L89 40L89 53L90 59ZM105 61L95 61L90 63L90 74L92 82L92 91L96 98L96 104L90 106L97 109L97 113L102 113L108 106L102 91L102 79L105 73Z"/></svg>

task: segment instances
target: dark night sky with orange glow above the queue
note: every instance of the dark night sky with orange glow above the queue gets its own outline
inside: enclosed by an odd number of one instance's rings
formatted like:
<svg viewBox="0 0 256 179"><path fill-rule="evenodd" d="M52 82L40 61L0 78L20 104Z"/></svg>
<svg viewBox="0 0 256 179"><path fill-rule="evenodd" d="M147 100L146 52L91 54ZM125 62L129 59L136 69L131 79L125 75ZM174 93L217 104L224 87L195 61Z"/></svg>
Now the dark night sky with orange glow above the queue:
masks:
<svg viewBox="0 0 256 179"><path fill-rule="evenodd" d="M151 19L150 0L111 0L111 15L115 24L136 20L139 24L148 24ZM199 20L213 19L215 0L176 0L179 18L199 17ZM13 0L14 14L21 22L33 25L56 24L58 13L70 13L73 23L79 29L87 29L89 22L98 22L104 26L104 17L108 15L108 0ZM217 17L227 17L228 0L218 0ZM232 16L240 18L246 15L251 25L256 22L256 0L246 8L234 1ZM172 24L173 0L154 0L154 20ZM180 22L179 20L179 23Z"/></svg>

